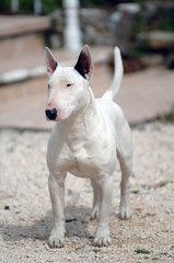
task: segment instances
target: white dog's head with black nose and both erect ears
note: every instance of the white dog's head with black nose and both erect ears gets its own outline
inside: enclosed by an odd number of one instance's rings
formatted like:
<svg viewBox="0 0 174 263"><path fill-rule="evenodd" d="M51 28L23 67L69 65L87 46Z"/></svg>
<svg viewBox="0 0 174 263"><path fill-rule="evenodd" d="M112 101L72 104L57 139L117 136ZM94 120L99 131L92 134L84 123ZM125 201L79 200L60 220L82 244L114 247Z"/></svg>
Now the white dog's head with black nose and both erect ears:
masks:
<svg viewBox="0 0 174 263"><path fill-rule="evenodd" d="M89 82L93 71L89 47L83 47L74 67L60 67L48 48L45 49L45 62L49 77L46 117L67 119L89 101Z"/></svg>

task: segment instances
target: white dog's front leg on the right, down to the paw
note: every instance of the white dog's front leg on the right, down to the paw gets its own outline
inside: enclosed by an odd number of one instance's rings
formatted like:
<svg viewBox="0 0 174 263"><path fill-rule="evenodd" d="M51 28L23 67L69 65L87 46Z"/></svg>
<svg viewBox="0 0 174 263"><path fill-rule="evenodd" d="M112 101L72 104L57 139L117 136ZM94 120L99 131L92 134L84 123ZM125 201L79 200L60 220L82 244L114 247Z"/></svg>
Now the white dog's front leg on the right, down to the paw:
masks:
<svg viewBox="0 0 174 263"><path fill-rule="evenodd" d="M95 247L107 247L112 243L109 236L109 208L113 196L113 176L101 180L101 205L96 227L96 236L93 244Z"/></svg>

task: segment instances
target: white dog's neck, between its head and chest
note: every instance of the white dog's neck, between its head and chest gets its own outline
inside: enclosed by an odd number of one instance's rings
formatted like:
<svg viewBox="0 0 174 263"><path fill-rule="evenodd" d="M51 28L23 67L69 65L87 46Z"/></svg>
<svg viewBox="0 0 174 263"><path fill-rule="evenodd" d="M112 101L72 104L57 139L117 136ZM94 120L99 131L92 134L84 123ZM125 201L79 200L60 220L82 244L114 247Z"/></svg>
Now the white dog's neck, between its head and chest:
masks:
<svg viewBox="0 0 174 263"><path fill-rule="evenodd" d="M89 88L88 103L83 108L73 112L67 119L61 121L61 129L67 144L72 151L81 147L91 132L93 117L96 115L94 94Z"/></svg>

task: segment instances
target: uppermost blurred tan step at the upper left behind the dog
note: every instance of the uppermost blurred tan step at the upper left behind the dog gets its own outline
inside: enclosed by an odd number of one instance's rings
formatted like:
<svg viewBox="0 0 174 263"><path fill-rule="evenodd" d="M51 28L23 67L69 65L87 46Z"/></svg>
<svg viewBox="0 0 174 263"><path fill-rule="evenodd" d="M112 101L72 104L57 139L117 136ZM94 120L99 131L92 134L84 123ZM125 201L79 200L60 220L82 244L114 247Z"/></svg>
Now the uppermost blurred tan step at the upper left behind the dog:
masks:
<svg viewBox="0 0 174 263"><path fill-rule="evenodd" d="M48 16L0 15L0 58L7 62L31 52L37 54L44 47L44 33L49 27ZM4 72L4 68L1 67L0 72Z"/></svg>

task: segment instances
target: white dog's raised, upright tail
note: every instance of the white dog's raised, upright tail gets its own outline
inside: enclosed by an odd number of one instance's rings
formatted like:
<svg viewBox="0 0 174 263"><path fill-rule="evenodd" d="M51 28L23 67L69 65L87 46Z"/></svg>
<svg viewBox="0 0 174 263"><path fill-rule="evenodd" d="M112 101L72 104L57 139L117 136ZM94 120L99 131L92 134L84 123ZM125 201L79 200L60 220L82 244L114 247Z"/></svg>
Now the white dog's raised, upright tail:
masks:
<svg viewBox="0 0 174 263"><path fill-rule="evenodd" d="M114 100L114 96L118 92L120 82L123 79L123 72L124 72L123 60L120 56L120 50L117 46L114 48L114 64L115 64L115 70L114 70L113 83L102 96L103 99L107 99L107 100Z"/></svg>

